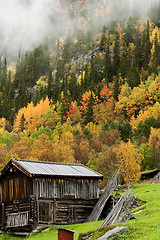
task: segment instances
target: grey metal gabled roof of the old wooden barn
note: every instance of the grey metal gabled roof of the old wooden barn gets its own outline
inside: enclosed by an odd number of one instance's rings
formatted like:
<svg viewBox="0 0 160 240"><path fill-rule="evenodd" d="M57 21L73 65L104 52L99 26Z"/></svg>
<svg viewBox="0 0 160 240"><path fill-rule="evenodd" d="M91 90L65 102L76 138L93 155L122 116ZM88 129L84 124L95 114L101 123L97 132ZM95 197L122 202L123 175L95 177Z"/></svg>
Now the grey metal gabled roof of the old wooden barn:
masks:
<svg viewBox="0 0 160 240"><path fill-rule="evenodd" d="M81 164L66 164L55 162L40 162L31 160L11 159L7 166L2 170L2 175L10 165L14 165L20 171L30 177L50 176L50 177L89 177L103 178L103 176L92 169ZM1 176L2 176L1 175Z"/></svg>

